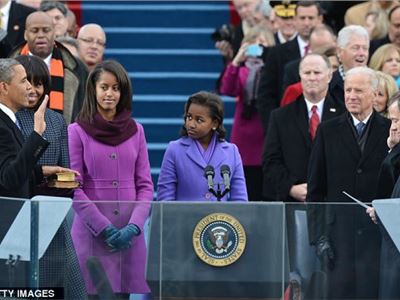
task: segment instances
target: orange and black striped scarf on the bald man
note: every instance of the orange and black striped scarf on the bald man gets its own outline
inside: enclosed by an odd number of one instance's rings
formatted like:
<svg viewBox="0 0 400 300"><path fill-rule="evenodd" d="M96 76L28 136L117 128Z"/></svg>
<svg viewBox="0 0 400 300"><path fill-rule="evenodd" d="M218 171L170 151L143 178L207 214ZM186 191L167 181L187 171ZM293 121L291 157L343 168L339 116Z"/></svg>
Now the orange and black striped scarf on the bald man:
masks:
<svg viewBox="0 0 400 300"><path fill-rule="evenodd" d="M21 55L29 55L28 44L22 48ZM64 111L64 65L61 52L55 44L50 60L50 76L51 91L49 108L62 114Z"/></svg>

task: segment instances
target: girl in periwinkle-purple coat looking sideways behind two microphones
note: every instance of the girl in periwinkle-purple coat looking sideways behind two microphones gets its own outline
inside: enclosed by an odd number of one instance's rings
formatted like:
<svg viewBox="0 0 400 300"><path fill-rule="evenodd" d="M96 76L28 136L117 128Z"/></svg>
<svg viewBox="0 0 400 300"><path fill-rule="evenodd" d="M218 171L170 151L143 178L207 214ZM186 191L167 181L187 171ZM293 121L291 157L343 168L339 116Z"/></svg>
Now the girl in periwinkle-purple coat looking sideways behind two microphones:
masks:
<svg viewBox="0 0 400 300"><path fill-rule="evenodd" d="M234 144L225 141L223 103L218 95L198 92L185 105L182 137L165 152L158 177L158 200L247 201L242 159ZM229 169L229 171L228 171ZM223 176L225 174L225 178ZM208 176L207 176L208 175Z"/></svg>

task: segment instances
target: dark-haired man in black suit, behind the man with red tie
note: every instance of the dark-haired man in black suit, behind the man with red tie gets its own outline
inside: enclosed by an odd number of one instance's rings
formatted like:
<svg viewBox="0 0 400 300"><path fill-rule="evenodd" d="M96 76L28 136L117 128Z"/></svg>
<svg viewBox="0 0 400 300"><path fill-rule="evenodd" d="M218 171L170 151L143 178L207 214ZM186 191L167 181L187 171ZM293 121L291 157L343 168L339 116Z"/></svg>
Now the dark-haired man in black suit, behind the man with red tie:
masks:
<svg viewBox="0 0 400 300"><path fill-rule="evenodd" d="M299 1L296 6L295 24L298 35L295 39L271 48L261 72L257 105L265 132L271 111L279 107L282 98L283 70L285 65L303 57L307 50L311 30L322 22L320 6L314 1Z"/></svg>

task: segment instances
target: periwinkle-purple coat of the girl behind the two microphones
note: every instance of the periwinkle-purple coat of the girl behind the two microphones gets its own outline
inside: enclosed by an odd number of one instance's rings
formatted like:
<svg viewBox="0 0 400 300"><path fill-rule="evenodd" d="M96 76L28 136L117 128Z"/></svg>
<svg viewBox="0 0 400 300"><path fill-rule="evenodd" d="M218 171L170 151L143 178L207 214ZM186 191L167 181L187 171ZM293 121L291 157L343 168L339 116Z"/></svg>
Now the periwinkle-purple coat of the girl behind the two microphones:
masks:
<svg viewBox="0 0 400 300"><path fill-rule="evenodd" d="M247 201L242 159L236 145L218 141L207 164L190 137L182 137L169 143L158 177L157 200L216 201L216 197L208 191L204 176L207 165L215 169L214 183L223 182L221 165L228 165L230 168L231 191L222 201Z"/></svg>

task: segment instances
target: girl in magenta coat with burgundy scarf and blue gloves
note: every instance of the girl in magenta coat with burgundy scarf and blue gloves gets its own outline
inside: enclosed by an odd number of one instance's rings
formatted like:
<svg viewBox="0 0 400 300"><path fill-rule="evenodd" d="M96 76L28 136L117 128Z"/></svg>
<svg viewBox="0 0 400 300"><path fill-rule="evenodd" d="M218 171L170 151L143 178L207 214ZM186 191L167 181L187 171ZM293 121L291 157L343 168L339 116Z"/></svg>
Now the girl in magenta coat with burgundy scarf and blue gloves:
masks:
<svg viewBox="0 0 400 300"><path fill-rule="evenodd" d="M78 170L72 238L89 296L86 266L97 257L118 299L149 293L143 224L153 184L143 127L131 118L132 87L124 68L104 61L90 73L77 122L68 127L71 167Z"/></svg>

